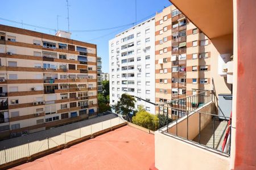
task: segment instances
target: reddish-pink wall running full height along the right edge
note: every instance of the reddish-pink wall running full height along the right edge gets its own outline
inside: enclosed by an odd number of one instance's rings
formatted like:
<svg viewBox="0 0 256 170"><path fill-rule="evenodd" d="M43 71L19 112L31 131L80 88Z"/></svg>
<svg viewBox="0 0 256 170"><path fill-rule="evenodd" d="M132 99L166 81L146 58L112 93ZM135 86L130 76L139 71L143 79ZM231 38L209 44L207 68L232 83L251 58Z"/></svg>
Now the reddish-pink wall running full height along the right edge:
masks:
<svg viewBox="0 0 256 170"><path fill-rule="evenodd" d="M238 80L234 169L247 170L256 169L256 1L236 1Z"/></svg>

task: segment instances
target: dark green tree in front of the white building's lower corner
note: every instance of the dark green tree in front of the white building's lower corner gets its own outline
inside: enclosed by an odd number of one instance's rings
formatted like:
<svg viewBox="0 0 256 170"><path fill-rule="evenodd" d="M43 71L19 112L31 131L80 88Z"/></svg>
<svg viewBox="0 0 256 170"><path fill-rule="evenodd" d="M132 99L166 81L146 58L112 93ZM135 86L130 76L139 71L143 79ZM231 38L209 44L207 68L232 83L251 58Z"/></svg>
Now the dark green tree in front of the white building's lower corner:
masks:
<svg viewBox="0 0 256 170"><path fill-rule="evenodd" d="M113 106L113 109L116 113L126 116L130 121L130 113L135 109L135 99L129 94L123 93L120 100L116 105Z"/></svg>

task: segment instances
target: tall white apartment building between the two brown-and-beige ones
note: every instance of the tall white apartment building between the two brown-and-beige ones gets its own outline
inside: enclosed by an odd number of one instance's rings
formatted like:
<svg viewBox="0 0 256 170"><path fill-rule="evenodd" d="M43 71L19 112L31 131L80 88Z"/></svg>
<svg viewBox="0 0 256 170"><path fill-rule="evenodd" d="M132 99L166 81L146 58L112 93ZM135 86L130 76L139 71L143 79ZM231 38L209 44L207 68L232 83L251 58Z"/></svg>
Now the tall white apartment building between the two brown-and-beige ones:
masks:
<svg viewBox="0 0 256 170"><path fill-rule="evenodd" d="M155 102L155 18L116 35L109 41L110 105L123 93ZM137 98L135 98L137 99ZM155 114L155 106L137 99Z"/></svg>

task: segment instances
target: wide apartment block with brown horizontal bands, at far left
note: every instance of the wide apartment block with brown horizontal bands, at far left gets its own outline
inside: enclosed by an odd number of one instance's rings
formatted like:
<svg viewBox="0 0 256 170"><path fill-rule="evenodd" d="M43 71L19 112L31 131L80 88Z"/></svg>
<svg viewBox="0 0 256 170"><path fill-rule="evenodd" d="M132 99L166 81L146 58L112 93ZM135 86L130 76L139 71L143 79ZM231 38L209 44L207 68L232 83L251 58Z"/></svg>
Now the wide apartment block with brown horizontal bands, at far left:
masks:
<svg viewBox="0 0 256 170"><path fill-rule="evenodd" d="M0 136L19 136L97 113L96 45L0 25Z"/></svg>

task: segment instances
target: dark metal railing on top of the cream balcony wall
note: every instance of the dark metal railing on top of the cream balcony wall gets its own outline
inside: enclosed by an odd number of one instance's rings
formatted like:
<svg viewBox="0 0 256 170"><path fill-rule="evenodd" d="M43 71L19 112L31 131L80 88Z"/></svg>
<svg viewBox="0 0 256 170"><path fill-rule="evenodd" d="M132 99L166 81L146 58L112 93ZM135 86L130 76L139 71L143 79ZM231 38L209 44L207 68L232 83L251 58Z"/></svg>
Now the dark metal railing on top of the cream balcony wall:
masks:
<svg viewBox="0 0 256 170"><path fill-rule="evenodd" d="M171 121L159 122L159 125L163 125L159 128L159 131L167 132L229 155L231 142L230 117L205 113L211 108L209 106L208 109L205 109L207 108L205 106L210 105L212 97L211 91L204 91L166 103L163 106L162 113L166 118L163 120ZM225 133L228 129L229 132L226 135L229 138L226 139L228 141L224 150L222 142L225 140Z"/></svg>

